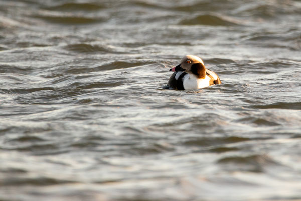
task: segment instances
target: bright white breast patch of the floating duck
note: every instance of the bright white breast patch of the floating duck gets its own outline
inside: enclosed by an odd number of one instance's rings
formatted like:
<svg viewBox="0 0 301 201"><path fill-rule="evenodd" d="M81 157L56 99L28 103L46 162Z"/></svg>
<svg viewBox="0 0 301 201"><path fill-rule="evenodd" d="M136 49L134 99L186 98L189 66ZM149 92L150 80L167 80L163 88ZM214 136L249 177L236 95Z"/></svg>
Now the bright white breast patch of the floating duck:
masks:
<svg viewBox="0 0 301 201"><path fill-rule="evenodd" d="M186 74L183 77L183 86L185 90L193 90L208 87L210 77L206 75L204 79L197 79L194 75Z"/></svg>

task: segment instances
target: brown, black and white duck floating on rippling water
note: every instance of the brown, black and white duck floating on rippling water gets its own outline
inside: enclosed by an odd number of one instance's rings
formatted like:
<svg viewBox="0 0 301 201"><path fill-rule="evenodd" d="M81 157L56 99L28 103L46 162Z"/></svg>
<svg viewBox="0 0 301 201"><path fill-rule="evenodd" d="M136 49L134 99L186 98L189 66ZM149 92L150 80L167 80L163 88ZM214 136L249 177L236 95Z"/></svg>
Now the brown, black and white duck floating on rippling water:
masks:
<svg viewBox="0 0 301 201"><path fill-rule="evenodd" d="M205 68L203 60L194 55L186 55L174 68L174 72L164 89L194 90L221 84L219 76Z"/></svg>

